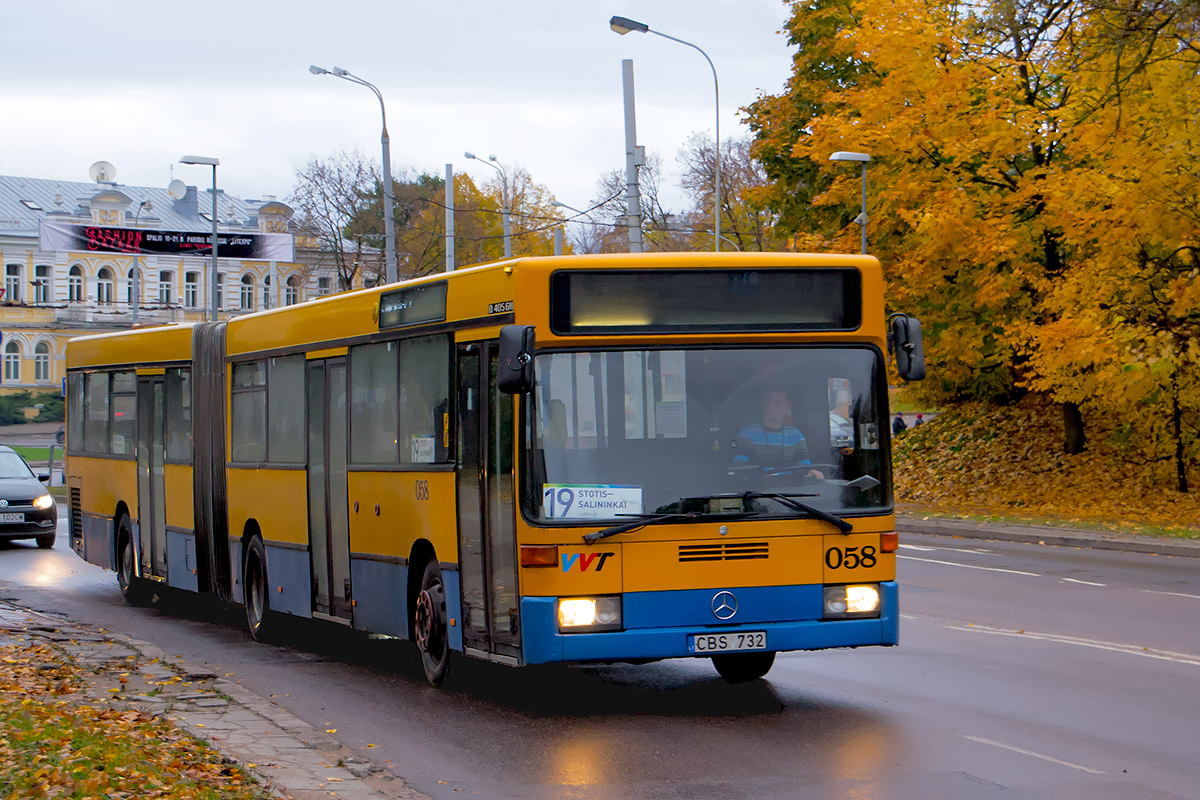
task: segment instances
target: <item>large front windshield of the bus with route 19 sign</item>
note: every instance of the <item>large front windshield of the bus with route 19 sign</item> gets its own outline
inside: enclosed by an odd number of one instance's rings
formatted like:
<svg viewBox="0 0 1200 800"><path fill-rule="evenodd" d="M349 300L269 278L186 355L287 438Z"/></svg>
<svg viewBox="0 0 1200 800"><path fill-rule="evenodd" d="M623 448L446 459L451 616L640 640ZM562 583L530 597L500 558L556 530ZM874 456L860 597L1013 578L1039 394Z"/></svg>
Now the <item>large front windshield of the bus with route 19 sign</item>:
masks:
<svg viewBox="0 0 1200 800"><path fill-rule="evenodd" d="M755 493L886 512L884 386L880 354L862 347L540 354L526 516L619 523L697 498L756 519L805 516ZM734 495L746 497L720 500Z"/></svg>

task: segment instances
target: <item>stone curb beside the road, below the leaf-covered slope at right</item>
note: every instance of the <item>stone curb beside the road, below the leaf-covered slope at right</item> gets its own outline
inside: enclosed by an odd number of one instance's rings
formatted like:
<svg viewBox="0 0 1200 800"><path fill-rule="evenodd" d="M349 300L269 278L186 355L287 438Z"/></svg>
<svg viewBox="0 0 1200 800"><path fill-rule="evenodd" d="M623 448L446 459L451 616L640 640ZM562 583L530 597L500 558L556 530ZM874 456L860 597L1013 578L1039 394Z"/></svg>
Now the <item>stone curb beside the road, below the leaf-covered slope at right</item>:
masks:
<svg viewBox="0 0 1200 800"><path fill-rule="evenodd" d="M901 534L992 539L1006 542L1025 542L1028 545L1056 545L1060 547L1086 547L1096 551L1200 558L1200 541L1196 540L1157 539L1129 534L1051 528L1046 525L1007 525L967 522L964 519L920 517L917 515L896 515L896 531Z"/></svg>

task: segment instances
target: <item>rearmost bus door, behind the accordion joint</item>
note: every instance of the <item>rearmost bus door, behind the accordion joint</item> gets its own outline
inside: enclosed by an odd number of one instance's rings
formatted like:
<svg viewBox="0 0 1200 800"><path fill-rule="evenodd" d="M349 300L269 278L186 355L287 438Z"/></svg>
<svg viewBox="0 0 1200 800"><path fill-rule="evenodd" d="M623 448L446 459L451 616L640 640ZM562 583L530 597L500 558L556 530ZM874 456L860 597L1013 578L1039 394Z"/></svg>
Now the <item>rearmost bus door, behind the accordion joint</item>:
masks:
<svg viewBox="0 0 1200 800"><path fill-rule="evenodd" d="M162 377L138 378L138 575L167 577L167 487L163 475ZM182 582L182 583L186 583Z"/></svg>

